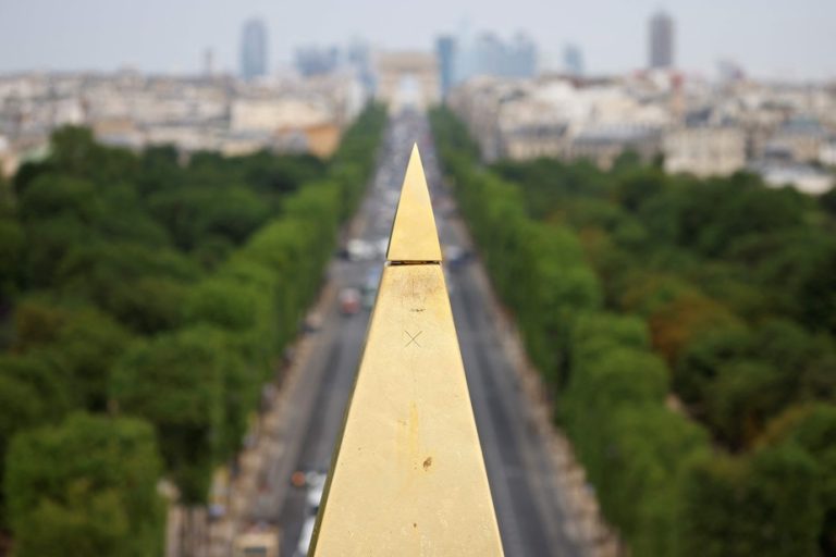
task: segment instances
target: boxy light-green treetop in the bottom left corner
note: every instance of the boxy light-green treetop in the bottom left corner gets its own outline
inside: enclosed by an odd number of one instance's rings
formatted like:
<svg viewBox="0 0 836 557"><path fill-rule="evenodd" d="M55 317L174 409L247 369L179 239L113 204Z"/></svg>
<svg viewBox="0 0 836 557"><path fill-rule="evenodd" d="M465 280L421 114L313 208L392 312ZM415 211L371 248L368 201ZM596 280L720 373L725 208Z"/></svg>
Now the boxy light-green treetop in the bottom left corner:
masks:
<svg viewBox="0 0 836 557"><path fill-rule="evenodd" d="M138 420L76 413L19 434L5 471L15 555L159 555L160 472Z"/></svg>

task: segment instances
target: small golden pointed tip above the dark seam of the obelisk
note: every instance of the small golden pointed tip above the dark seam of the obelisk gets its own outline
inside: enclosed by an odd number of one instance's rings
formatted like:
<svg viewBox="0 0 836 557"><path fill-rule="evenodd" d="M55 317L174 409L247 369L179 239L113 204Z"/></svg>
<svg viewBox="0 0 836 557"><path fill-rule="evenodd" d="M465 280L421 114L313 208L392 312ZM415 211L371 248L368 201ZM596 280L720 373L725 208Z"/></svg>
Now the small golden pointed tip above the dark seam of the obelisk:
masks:
<svg viewBox="0 0 836 557"><path fill-rule="evenodd" d="M423 175L418 144L406 166L386 260L395 262L441 261L441 246L432 215L432 202Z"/></svg>

